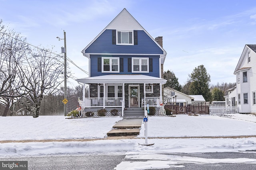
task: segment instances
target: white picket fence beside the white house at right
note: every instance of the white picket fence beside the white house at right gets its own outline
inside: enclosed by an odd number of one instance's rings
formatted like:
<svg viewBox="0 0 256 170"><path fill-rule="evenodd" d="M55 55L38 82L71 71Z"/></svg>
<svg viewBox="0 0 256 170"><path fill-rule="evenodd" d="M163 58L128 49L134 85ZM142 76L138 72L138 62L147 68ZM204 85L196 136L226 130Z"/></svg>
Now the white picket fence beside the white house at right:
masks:
<svg viewBox="0 0 256 170"><path fill-rule="evenodd" d="M210 114L231 114L238 113L236 106L210 106Z"/></svg>

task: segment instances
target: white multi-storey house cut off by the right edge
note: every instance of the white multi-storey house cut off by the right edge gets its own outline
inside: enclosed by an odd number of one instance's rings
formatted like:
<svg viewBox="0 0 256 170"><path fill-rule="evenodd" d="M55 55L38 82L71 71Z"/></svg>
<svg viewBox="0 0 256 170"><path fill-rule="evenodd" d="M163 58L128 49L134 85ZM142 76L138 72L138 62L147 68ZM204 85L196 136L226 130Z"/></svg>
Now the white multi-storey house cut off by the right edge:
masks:
<svg viewBox="0 0 256 170"><path fill-rule="evenodd" d="M239 113L256 113L256 45L245 45L234 71Z"/></svg>

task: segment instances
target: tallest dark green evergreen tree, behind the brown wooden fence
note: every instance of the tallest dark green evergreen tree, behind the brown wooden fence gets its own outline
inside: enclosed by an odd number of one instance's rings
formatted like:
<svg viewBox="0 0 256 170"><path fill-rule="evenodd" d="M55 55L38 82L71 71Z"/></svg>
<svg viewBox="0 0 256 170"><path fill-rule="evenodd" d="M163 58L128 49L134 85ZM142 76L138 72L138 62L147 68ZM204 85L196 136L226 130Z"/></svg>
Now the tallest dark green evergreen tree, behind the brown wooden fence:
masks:
<svg viewBox="0 0 256 170"><path fill-rule="evenodd" d="M211 78L204 65L194 68L193 72L190 74L190 78L192 81L190 84L190 94L201 94L206 101L211 101L211 92L209 88Z"/></svg>

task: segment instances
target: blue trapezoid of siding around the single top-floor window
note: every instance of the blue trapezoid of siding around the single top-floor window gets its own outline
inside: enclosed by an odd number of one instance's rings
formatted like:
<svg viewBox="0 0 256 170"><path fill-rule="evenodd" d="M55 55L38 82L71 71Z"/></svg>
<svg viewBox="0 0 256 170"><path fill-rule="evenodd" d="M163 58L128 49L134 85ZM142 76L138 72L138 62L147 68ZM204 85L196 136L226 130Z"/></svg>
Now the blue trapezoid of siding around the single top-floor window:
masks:
<svg viewBox="0 0 256 170"><path fill-rule="evenodd" d="M138 30L138 45L113 45L112 29L106 29L85 53L163 54L164 52L143 30Z"/></svg>

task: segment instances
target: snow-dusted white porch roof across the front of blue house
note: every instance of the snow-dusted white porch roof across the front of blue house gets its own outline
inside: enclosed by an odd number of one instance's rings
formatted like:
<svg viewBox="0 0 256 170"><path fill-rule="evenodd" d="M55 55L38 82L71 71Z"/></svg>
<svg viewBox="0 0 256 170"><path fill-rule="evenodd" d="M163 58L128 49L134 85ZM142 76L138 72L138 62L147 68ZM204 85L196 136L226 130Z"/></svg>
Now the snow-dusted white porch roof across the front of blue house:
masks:
<svg viewBox="0 0 256 170"><path fill-rule="evenodd" d="M111 74L104 76L95 76L76 79L80 83L147 83L147 84L165 84L167 80L153 76L141 74Z"/></svg>

